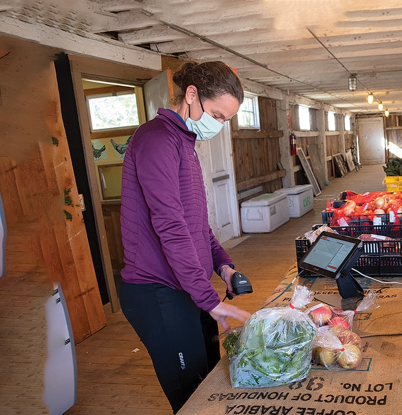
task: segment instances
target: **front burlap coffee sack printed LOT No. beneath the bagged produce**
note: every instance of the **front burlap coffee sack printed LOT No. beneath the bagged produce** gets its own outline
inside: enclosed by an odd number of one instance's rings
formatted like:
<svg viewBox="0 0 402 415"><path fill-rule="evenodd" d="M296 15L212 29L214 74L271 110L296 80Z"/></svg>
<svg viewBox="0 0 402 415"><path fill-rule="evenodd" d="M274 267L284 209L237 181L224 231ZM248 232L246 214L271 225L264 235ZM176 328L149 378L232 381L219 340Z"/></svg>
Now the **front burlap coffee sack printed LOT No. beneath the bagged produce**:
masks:
<svg viewBox="0 0 402 415"><path fill-rule="evenodd" d="M363 361L356 370L313 367L303 381L259 389L232 388L225 355L178 415L399 414L401 341L401 336L367 337L363 340Z"/></svg>

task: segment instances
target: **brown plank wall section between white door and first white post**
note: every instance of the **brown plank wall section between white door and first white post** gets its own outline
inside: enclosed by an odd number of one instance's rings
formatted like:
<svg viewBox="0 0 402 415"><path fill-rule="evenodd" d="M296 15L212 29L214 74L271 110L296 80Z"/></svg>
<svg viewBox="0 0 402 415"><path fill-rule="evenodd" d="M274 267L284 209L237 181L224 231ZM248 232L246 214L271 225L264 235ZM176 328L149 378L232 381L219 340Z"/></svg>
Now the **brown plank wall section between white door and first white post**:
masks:
<svg viewBox="0 0 402 415"><path fill-rule="evenodd" d="M279 139L283 132L278 131L276 102L273 99L259 97L260 131L233 130L233 156L237 190L246 190L262 185L263 191L273 192L282 187L281 177L285 172L279 171Z"/></svg>

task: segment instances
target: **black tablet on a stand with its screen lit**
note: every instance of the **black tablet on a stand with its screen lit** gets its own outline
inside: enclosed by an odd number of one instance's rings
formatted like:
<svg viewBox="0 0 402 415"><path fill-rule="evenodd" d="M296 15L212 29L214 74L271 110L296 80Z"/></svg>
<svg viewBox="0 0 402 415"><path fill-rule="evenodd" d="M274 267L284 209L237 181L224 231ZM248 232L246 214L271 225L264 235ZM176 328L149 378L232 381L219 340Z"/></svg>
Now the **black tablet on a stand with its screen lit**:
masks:
<svg viewBox="0 0 402 415"><path fill-rule="evenodd" d="M316 294L317 299L344 310L354 309L364 297L364 292L350 271L363 250L360 239L324 231L297 265L336 280L341 298L331 294Z"/></svg>

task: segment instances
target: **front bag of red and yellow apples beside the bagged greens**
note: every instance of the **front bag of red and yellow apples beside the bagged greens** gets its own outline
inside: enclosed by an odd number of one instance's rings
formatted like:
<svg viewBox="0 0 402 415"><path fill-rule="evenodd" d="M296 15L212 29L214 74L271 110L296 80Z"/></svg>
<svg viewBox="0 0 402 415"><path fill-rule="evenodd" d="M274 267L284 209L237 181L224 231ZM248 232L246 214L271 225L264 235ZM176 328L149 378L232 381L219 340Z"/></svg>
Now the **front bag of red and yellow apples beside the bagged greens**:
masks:
<svg viewBox="0 0 402 415"><path fill-rule="evenodd" d="M342 326L322 326L313 340L313 360L329 370L356 369L362 361L360 337Z"/></svg>

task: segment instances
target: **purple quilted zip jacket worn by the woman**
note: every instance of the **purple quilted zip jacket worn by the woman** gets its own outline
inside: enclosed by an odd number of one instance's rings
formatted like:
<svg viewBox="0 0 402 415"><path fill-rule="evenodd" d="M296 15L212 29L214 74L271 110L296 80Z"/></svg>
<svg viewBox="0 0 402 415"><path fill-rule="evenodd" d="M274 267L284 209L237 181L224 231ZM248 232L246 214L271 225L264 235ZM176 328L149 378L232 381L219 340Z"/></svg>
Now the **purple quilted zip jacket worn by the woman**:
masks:
<svg viewBox="0 0 402 415"><path fill-rule="evenodd" d="M210 312L219 302L210 278L232 265L209 224L196 134L171 111L140 126L123 162L122 280L187 291Z"/></svg>

